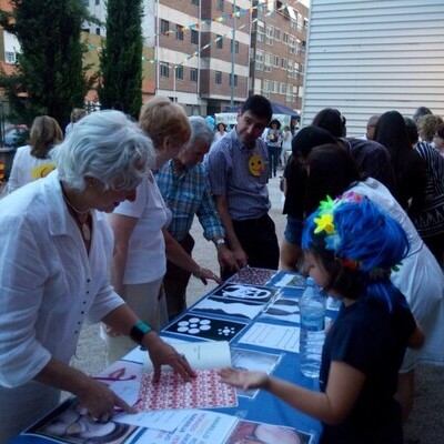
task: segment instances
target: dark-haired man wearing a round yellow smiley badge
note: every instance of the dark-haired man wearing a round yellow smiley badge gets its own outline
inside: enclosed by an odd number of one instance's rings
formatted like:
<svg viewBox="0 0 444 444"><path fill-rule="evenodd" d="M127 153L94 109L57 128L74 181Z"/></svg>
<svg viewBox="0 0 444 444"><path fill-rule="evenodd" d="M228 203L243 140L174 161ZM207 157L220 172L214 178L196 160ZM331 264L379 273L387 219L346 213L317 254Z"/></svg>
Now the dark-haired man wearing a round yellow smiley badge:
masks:
<svg viewBox="0 0 444 444"><path fill-rule="evenodd" d="M275 270L279 265L275 226L269 216L269 157L260 138L271 118L270 101L250 97L236 127L211 148L206 159L211 192L240 268Z"/></svg>

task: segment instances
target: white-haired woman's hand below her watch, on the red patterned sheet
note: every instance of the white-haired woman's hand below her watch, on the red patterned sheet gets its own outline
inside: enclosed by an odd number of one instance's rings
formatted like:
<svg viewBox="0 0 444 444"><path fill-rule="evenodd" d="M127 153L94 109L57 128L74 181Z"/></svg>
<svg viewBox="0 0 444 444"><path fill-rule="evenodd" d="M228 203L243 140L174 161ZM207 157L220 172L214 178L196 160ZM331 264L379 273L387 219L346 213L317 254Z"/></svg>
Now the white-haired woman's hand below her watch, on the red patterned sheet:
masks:
<svg viewBox="0 0 444 444"><path fill-rule="evenodd" d="M186 361L184 355L170 344L167 344L155 332L150 332L143 339L142 345L148 350L150 360L154 367L153 382L159 382L161 375L161 366L170 365L173 367L185 381L195 377L196 374Z"/></svg>

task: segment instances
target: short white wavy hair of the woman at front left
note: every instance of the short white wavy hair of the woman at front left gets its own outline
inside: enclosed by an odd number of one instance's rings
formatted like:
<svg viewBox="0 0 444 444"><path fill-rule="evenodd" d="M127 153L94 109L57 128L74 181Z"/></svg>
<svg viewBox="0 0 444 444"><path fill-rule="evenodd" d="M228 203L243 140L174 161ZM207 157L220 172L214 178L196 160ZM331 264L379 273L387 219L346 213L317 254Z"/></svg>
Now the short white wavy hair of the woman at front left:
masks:
<svg viewBox="0 0 444 444"><path fill-rule="evenodd" d="M132 190L154 164L151 139L120 111L93 112L78 123L52 150L59 178L82 191L85 178L103 182L104 189Z"/></svg>

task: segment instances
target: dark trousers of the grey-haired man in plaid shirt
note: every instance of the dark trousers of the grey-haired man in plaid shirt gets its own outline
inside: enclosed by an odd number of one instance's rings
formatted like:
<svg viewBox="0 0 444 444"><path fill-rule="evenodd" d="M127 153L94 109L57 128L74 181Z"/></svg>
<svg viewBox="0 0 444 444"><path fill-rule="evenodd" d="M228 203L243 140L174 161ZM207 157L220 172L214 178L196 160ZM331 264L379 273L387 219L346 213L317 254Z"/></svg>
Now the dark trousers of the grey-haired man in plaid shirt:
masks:
<svg viewBox="0 0 444 444"><path fill-rule="evenodd" d="M186 234L183 241L178 241L183 250L191 255L194 248L194 239ZM167 261L167 273L163 278L163 286L167 296L168 317L171 321L186 309L186 285L191 273Z"/></svg>

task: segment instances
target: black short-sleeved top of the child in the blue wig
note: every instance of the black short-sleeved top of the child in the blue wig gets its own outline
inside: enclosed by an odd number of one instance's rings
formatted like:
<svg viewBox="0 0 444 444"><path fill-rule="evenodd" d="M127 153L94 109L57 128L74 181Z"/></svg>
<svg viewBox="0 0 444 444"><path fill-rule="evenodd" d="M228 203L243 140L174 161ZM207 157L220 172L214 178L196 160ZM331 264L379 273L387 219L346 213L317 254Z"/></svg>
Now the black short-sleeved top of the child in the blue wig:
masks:
<svg viewBox="0 0 444 444"><path fill-rule="evenodd" d="M321 391L325 392L332 361L344 362L365 375L364 386L349 417L323 425L321 443L402 443L401 407L394 400L397 373L415 320L404 296L389 313L385 302L363 296L342 306L322 353Z"/></svg>

